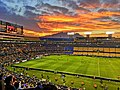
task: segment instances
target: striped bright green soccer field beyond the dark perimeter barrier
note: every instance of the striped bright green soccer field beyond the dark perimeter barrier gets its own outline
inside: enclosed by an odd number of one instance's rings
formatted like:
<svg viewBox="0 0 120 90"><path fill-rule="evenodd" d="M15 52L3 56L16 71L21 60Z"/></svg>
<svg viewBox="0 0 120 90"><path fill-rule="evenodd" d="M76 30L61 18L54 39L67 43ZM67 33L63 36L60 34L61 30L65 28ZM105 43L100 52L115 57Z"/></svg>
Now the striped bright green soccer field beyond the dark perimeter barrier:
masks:
<svg viewBox="0 0 120 90"><path fill-rule="evenodd" d="M120 58L51 55L16 64L29 68L54 70L75 74L117 79L120 76Z"/></svg>

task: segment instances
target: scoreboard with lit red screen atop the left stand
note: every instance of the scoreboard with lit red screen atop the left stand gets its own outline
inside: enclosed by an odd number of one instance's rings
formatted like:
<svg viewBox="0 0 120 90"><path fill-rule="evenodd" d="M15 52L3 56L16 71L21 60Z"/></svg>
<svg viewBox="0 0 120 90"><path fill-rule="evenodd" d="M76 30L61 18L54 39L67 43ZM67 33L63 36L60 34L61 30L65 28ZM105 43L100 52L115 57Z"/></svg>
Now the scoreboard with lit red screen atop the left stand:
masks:
<svg viewBox="0 0 120 90"><path fill-rule="evenodd" d="M0 20L0 32L23 35L23 26Z"/></svg>

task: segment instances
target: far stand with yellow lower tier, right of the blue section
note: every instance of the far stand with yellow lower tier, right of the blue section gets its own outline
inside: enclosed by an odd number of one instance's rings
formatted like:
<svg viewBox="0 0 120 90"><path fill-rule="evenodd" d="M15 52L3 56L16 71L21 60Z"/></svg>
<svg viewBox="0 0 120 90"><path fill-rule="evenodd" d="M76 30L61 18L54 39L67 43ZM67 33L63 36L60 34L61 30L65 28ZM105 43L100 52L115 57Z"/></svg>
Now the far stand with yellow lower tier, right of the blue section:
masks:
<svg viewBox="0 0 120 90"><path fill-rule="evenodd" d="M79 43L79 45L78 45ZM120 39L116 38L89 38L79 39L74 47L75 55L92 55L104 57L120 56Z"/></svg>

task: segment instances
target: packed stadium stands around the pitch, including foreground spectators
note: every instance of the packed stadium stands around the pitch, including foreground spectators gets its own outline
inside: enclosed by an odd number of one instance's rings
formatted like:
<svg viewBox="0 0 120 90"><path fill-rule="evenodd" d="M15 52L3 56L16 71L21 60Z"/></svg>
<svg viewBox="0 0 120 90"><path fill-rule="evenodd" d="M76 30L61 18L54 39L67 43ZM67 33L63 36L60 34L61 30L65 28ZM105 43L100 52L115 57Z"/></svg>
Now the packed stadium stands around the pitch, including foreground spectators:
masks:
<svg viewBox="0 0 120 90"><path fill-rule="evenodd" d="M6 25L1 25L3 27L5 26L4 28L7 30ZM16 35L14 33L8 34L6 32L1 32L0 34L0 90L17 90L18 88L19 90L78 90L77 88L55 85L52 82L40 80L35 75L30 77L26 73L26 70L29 70L29 68L21 69L22 73L12 72L6 68L11 66L13 63L29 61L39 57L40 55L72 54L120 57L120 39L116 38L86 39L82 37L74 40L73 38L71 39L68 37L57 39L41 38L40 41L24 41L23 38L25 37L23 35ZM6 38L14 40L3 40ZM32 37L26 37L27 40L29 40L29 38L31 39ZM4 85L4 83L6 83L6 85ZM71 82L71 84L74 84L74 82ZM97 85L94 86L95 88L97 87Z"/></svg>

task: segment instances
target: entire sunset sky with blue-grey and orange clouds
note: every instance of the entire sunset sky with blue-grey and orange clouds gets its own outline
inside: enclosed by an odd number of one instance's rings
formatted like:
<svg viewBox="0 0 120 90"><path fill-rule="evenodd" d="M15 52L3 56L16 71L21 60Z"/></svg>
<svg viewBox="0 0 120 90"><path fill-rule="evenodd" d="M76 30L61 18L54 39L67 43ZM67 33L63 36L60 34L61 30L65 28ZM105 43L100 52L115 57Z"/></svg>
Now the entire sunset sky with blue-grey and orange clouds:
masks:
<svg viewBox="0 0 120 90"><path fill-rule="evenodd" d="M0 19L24 26L24 34L59 32L120 36L120 0L0 0Z"/></svg>

